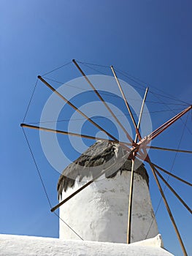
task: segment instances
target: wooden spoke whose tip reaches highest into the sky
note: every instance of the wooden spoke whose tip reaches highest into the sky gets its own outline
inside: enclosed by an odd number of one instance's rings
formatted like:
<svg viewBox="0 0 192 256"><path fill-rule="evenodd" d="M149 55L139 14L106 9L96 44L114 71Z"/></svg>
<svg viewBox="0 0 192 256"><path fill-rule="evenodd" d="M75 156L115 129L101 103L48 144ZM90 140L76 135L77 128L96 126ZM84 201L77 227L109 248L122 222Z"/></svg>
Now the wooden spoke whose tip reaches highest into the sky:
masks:
<svg viewBox="0 0 192 256"><path fill-rule="evenodd" d="M88 79L88 77L85 75L85 73L82 71L82 69L80 68L80 66L77 64L77 61L75 61L75 59L72 60L73 63L75 64L75 66L77 67L77 69L79 69L80 73L82 74L82 76L85 78L85 80L88 82L88 84L91 86L91 88L93 89L93 91L95 92L95 94L99 97L99 99L101 100L101 102L104 103L104 106L107 108L107 110L109 110L109 112L111 113L111 115L113 116L113 118L115 118L115 121L118 122L119 126L121 127L121 129L123 129L123 132L126 133L126 136L128 138L128 140L130 140L131 142L133 142L133 139L131 138L131 136L128 134L127 130L125 129L125 127L123 127L123 124L120 123L120 121L118 120L117 116L115 116L115 113L112 112L112 110L110 109L110 107L107 105L107 103L104 101L103 97L101 97L101 94L99 94L99 91L96 90L95 86L93 86L93 83L91 83L91 80Z"/></svg>

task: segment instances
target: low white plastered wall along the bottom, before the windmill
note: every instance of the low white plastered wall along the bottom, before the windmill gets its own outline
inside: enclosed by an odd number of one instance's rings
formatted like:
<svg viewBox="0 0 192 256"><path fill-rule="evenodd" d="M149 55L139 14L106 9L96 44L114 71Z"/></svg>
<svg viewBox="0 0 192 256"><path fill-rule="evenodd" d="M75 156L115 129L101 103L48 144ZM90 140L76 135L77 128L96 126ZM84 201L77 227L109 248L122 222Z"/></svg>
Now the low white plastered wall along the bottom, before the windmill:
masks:
<svg viewBox="0 0 192 256"><path fill-rule="evenodd" d="M0 256L173 256L161 247L0 235Z"/></svg>

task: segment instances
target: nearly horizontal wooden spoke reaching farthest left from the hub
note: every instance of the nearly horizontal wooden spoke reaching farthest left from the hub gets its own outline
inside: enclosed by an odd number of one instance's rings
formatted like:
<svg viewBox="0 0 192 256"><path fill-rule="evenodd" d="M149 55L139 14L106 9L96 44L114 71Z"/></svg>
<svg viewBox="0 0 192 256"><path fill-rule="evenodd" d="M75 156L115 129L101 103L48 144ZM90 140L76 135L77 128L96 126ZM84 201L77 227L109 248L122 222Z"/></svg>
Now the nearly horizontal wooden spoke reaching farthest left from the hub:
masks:
<svg viewBox="0 0 192 256"><path fill-rule="evenodd" d="M89 135L82 135L82 134L78 134L78 133L74 133L74 132L66 132L66 131L61 131L59 129L50 129L50 128L46 128L46 127L37 127L31 124L20 124L20 127L26 127L26 128L31 128L31 129L39 129L45 132L55 132L55 133L60 133L63 135L70 135L70 136L76 136L76 137L80 137L80 138L86 138L86 139L91 139L91 140L103 140L103 141L109 141L112 143L118 143L120 145L128 145L131 146L131 143L127 143L127 142L121 142L121 141L117 141L115 142L114 140L109 140L109 139L104 139L104 138L99 138L99 137L94 137L94 136L89 136ZM127 148L128 149L128 148Z"/></svg>

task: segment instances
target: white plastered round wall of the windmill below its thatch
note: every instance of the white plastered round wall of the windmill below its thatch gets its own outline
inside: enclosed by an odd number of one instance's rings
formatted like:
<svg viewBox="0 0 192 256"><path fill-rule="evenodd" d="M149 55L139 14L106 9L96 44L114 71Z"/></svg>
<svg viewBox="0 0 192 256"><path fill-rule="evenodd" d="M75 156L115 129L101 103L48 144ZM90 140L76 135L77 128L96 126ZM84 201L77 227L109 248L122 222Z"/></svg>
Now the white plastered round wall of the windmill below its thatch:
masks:
<svg viewBox="0 0 192 256"><path fill-rule="evenodd" d="M60 208L60 217L84 240L126 243L128 221L128 195L130 171L120 172L115 178L103 178L75 195ZM75 184L63 192L68 197L82 184ZM153 207L146 181L134 174L134 197L131 225L131 242L158 235L153 221ZM60 221L60 238L80 239L64 222Z"/></svg>

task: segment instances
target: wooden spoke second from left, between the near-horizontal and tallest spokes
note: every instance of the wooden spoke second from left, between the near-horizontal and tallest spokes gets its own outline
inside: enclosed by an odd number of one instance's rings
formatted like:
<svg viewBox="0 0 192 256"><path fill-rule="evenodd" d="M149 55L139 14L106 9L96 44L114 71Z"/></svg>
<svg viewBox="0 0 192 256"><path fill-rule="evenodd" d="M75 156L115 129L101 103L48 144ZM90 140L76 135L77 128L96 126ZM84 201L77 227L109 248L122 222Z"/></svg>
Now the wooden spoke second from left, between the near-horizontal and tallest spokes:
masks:
<svg viewBox="0 0 192 256"><path fill-rule="evenodd" d="M61 95L57 90L55 90L53 88L53 86L50 85L50 83L47 83L47 81L45 79L43 79L40 75L38 75L39 80L41 80L43 83L45 83L45 85L51 89L55 94L57 94L59 97L61 97L61 99L64 99L64 101L71 106L72 108L74 108L74 110L76 110L78 113L80 113L81 116L85 117L91 124L93 124L95 127L97 127L98 129L100 129L102 132L106 133L110 138L112 138L112 140L115 140L115 142L118 141L118 139L116 139L114 136L112 136L109 132L107 132L105 129L103 129L102 127L99 126L99 124L96 124L96 122L94 122L93 120L91 120L91 118L89 118L88 116L85 115L85 113L82 113L81 110L79 110L77 107L75 107L75 105L72 104L72 102L69 102L69 100L67 100L63 95Z"/></svg>

